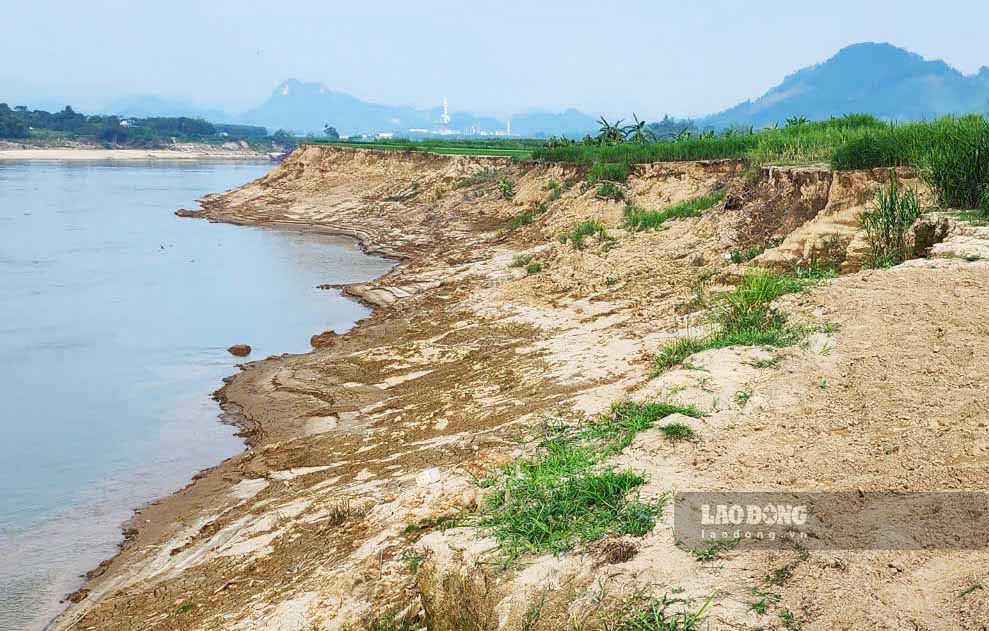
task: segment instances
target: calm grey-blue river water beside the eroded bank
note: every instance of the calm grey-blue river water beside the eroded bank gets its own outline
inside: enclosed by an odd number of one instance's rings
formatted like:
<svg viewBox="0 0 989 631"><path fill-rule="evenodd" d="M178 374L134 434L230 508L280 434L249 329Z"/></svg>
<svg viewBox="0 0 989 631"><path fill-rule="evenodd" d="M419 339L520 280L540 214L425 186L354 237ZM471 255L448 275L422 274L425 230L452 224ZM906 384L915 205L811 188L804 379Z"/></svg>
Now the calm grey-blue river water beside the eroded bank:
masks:
<svg viewBox="0 0 989 631"><path fill-rule="evenodd" d="M133 508L237 453L209 398L367 315L351 242L180 219L270 164L0 162L0 631L42 628Z"/></svg>

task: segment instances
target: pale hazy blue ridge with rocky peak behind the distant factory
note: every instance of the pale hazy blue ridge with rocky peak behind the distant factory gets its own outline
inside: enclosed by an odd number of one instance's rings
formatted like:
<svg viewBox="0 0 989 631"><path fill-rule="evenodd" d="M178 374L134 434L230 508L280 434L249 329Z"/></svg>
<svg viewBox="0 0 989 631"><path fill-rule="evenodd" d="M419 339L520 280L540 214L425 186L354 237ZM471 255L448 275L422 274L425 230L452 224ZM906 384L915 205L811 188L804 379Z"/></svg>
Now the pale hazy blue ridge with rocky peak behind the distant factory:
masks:
<svg viewBox="0 0 989 631"><path fill-rule="evenodd" d="M362 101L345 92L331 90L322 83L289 79L278 85L260 106L244 112L238 120L268 129L286 129L299 133L323 131L332 125L341 134L392 132L407 134L410 129L434 130L442 126L439 107L417 109L408 106L382 105ZM513 116L512 132L522 135L583 135L596 129L594 119L577 110L554 114L529 112ZM494 132L504 130L506 121L476 116L469 112L450 112L450 129L471 128Z"/></svg>

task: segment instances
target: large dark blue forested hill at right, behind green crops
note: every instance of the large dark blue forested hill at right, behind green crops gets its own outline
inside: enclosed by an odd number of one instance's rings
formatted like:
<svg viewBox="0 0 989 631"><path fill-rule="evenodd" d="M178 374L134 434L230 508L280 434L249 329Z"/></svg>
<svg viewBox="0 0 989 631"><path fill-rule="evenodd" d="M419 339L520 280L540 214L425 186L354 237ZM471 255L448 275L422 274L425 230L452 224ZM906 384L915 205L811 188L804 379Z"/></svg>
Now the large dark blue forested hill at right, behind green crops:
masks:
<svg viewBox="0 0 989 631"><path fill-rule="evenodd" d="M811 120L852 112L887 120L931 119L989 109L989 68L964 75L891 44L862 43L787 76L754 101L698 121L703 126L763 127L791 116Z"/></svg>

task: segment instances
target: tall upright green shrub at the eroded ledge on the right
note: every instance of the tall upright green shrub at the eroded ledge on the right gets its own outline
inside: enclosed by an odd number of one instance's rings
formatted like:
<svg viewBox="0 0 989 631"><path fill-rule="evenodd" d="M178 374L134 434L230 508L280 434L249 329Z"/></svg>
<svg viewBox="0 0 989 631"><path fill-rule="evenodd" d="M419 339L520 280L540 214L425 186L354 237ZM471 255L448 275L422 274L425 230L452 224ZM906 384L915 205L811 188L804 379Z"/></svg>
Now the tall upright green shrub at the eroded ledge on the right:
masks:
<svg viewBox="0 0 989 631"><path fill-rule="evenodd" d="M907 256L907 233L922 214L920 199L912 190L902 190L893 173L889 184L876 193L872 207L859 217L869 244L866 264L892 267Z"/></svg>

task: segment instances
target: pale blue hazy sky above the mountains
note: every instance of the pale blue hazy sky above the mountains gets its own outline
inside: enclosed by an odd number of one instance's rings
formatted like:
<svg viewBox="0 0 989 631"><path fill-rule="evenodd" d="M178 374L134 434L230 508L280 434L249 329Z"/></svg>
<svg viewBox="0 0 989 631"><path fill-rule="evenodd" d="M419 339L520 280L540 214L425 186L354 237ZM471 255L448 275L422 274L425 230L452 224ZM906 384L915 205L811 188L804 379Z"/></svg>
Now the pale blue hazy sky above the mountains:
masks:
<svg viewBox="0 0 989 631"><path fill-rule="evenodd" d="M0 92L11 78L91 84L232 111L292 77L477 113L703 114L859 41L966 73L989 65L989 3L977 0L32 0L3 14Z"/></svg>

